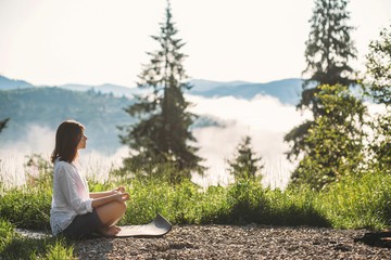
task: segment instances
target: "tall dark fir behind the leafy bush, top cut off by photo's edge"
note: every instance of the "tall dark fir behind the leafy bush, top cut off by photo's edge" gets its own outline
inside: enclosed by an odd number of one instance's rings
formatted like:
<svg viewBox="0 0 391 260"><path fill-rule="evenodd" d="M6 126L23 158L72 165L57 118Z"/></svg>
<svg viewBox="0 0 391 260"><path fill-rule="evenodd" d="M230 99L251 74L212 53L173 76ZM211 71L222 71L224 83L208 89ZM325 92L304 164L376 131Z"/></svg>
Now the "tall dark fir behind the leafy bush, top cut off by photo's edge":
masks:
<svg viewBox="0 0 391 260"><path fill-rule="evenodd" d="M303 91L298 109L310 108L314 120L307 120L293 128L285 141L293 143L287 153L288 158L295 158L308 152L312 147L304 140L316 119L326 115L324 104L317 98L323 84L351 86L354 80L349 61L356 57L356 49L350 34L354 29L348 25L350 13L346 11L346 0L315 0L315 9L311 23L311 31L305 50L306 68L303 76L310 75L303 82Z"/></svg>

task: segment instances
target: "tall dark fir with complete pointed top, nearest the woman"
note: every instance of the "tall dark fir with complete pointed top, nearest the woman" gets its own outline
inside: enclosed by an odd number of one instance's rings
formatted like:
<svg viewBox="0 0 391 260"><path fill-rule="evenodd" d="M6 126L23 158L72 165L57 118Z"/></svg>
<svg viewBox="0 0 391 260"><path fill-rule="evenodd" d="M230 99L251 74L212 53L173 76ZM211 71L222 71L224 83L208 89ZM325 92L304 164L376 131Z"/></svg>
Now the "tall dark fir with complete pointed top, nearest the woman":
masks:
<svg viewBox="0 0 391 260"><path fill-rule="evenodd" d="M191 89L184 82L188 79L182 66L187 55L181 53L185 43L176 38L178 30L172 21L169 1L166 20L160 26L160 36L152 36L160 50L148 52L150 63L144 65L137 83L139 88L152 88L153 91L146 96L136 96L137 102L125 108L139 121L118 127L126 132L119 138L135 152L124 159L125 168L139 170L147 167L147 173L162 174L159 168L169 165L176 169L169 171L169 174L176 172L168 177L169 180L180 181L190 178L191 171L202 173L204 168L200 166L202 158L195 155L198 148L191 145L197 140L189 127L197 116L187 110L190 103L184 98L184 91Z"/></svg>

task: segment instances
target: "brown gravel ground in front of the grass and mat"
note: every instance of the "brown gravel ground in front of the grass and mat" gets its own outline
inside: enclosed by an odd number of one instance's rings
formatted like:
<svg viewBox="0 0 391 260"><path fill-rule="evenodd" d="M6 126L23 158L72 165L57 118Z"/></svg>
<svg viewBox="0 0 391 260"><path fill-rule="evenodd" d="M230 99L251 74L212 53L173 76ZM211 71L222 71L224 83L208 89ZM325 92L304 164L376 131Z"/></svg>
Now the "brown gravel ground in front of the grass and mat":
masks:
<svg viewBox="0 0 391 260"><path fill-rule="evenodd" d="M308 226L176 225L160 238L93 238L78 259L391 259L391 249L354 238L365 230Z"/></svg>

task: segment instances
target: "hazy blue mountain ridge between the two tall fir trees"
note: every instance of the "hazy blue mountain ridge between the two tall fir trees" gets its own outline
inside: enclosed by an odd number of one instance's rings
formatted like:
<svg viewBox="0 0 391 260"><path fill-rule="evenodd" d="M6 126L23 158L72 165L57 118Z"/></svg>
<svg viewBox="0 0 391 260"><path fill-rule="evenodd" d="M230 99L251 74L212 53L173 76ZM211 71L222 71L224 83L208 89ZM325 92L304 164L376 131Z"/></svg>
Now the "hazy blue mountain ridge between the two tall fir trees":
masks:
<svg viewBox="0 0 391 260"><path fill-rule="evenodd" d="M204 83L204 82L202 82ZM268 83L217 83L213 88L206 89L204 86L198 87L193 83L190 94L202 95L205 98L235 96L251 100L255 95L270 95L277 98L283 104L297 105L301 99L303 80L299 78L283 79ZM204 90L205 89L205 90Z"/></svg>

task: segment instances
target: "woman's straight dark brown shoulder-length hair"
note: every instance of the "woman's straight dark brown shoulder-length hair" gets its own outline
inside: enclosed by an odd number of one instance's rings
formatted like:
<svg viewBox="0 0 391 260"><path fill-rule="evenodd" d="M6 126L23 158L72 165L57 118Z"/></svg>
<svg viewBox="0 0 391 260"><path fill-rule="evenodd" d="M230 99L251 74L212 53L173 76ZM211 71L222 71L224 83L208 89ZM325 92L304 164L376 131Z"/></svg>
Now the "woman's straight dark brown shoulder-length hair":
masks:
<svg viewBox="0 0 391 260"><path fill-rule="evenodd" d="M63 121L55 133L55 146L51 155L51 161L61 157L61 160L72 162L76 159L77 145L84 134L85 127L74 120Z"/></svg>

